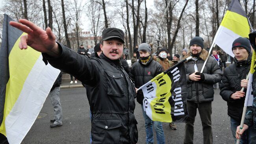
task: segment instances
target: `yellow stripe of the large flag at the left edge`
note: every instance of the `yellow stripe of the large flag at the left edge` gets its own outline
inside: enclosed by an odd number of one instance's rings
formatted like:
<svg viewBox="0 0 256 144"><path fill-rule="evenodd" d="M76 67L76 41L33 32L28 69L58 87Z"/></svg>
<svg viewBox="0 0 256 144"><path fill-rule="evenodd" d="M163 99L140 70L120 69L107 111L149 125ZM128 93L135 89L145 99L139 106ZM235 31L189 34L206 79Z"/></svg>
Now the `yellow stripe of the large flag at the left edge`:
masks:
<svg viewBox="0 0 256 144"><path fill-rule="evenodd" d="M23 33L21 36L26 35ZM0 133L6 136L5 119L16 103L24 82L28 77L33 65L39 58L41 52L28 47L26 50L19 49L20 38L16 41L9 54L9 74L10 78L6 85L6 99L4 105L4 118L0 126Z"/></svg>

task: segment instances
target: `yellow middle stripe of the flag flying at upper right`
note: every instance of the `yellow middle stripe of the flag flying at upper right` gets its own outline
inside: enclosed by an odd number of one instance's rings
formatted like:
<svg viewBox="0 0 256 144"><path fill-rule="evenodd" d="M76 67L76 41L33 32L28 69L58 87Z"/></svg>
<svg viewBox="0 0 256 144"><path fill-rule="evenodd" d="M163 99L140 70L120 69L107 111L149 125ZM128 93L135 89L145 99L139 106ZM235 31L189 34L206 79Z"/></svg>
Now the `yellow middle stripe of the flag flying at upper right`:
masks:
<svg viewBox="0 0 256 144"><path fill-rule="evenodd" d="M246 17L232 11L227 11L221 25L238 34L241 37L249 38L250 26Z"/></svg>

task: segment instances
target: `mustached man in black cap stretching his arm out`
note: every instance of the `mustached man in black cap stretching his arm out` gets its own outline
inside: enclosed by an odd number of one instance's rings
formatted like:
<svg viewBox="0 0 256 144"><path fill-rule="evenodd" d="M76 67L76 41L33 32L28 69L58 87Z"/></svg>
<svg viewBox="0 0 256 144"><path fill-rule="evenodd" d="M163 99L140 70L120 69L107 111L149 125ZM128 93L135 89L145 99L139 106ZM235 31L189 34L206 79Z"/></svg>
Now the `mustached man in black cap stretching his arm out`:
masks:
<svg viewBox="0 0 256 144"><path fill-rule="evenodd" d="M136 144L137 121L134 116L135 88L120 65L124 32L116 28L102 31L100 58L87 58L57 43L50 28L46 31L32 22L20 19L10 25L28 33L20 38L20 49L42 52L48 62L62 72L82 81L91 110L93 144Z"/></svg>

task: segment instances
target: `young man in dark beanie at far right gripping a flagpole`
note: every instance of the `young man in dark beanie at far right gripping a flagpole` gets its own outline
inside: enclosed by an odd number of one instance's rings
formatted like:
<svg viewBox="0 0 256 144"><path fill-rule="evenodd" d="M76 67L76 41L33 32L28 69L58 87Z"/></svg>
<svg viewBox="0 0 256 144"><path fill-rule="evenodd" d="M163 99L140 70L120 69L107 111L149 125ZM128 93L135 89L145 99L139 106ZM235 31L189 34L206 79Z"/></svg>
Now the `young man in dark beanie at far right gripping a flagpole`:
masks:
<svg viewBox="0 0 256 144"><path fill-rule="evenodd" d="M250 71L252 57L250 41L247 38L237 38L232 44L232 52L235 55L234 63L224 69L220 95L227 101L231 131L236 142L236 127L241 123L248 84L246 76ZM242 87L245 88L243 92L240 91ZM240 142L249 142L245 133Z"/></svg>

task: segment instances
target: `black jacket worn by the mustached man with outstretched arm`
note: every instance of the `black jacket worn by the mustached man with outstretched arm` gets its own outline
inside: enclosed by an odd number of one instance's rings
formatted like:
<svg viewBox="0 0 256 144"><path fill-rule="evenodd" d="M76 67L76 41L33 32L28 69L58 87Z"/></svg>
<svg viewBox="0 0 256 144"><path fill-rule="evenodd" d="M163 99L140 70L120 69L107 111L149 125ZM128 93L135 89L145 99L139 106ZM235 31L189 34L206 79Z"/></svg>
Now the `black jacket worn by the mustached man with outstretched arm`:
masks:
<svg viewBox="0 0 256 144"><path fill-rule="evenodd" d="M48 62L80 80L91 110L92 144L136 144L137 121L134 117L135 87L118 60L81 56L59 44L61 55Z"/></svg>

